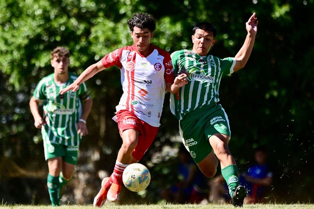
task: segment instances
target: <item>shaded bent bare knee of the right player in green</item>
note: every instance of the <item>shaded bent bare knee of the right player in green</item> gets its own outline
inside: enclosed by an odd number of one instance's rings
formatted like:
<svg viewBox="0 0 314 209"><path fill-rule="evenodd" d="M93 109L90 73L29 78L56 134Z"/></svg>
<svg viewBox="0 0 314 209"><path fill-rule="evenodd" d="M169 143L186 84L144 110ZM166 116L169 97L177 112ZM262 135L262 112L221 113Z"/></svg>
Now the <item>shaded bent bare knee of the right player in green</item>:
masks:
<svg viewBox="0 0 314 209"><path fill-rule="evenodd" d="M204 175L208 178L213 177L216 174L218 165L214 150L212 150L203 160L197 163L197 165Z"/></svg>

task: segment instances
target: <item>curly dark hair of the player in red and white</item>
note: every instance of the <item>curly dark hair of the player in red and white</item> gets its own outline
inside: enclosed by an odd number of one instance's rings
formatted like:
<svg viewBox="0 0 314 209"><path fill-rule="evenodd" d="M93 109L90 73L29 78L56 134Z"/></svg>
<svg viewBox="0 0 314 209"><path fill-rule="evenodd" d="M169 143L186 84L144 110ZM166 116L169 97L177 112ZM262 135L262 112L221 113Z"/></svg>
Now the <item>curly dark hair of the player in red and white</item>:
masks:
<svg viewBox="0 0 314 209"><path fill-rule="evenodd" d="M152 15L148 13L135 13L133 18L127 21L129 29L132 32L134 27L140 29L148 28L151 32L156 29L156 22Z"/></svg>

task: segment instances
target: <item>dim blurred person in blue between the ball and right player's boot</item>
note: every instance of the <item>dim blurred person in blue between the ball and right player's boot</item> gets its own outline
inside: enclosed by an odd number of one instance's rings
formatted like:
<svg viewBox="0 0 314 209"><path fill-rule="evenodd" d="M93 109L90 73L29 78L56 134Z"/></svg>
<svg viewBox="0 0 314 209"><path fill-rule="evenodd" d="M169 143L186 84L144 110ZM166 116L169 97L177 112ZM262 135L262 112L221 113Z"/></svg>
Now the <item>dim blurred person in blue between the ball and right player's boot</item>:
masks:
<svg viewBox="0 0 314 209"><path fill-rule="evenodd" d="M179 182L169 189L164 189L161 196L167 203L199 203L208 195L206 179L183 145L179 149L178 156Z"/></svg>

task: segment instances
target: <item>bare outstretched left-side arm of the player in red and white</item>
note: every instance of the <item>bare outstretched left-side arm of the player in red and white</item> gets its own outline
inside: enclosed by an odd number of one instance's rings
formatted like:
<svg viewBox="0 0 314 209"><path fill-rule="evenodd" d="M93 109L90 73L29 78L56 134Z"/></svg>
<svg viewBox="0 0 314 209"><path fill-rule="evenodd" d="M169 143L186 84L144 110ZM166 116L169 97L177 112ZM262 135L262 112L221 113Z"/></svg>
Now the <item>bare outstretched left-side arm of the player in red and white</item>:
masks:
<svg viewBox="0 0 314 209"><path fill-rule="evenodd" d="M84 81L88 80L89 78L93 77L96 73L104 70L105 67L102 65L101 60L97 63L90 65L78 78L69 86L59 91L59 94L64 94L67 91L72 90L73 92L79 89L79 85Z"/></svg>

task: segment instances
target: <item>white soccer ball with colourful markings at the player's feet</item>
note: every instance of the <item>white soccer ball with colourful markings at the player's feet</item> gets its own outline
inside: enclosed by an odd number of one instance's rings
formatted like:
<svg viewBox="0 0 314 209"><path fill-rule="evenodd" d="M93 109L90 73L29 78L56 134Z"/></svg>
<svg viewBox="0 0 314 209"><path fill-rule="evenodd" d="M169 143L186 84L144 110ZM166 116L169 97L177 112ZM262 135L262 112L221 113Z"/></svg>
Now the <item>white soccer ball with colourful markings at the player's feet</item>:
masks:
<svg viewBox="0 0 314 209"><path fill-rule="evenodd" d="M150 183L150 173L144 165L133 163L123 171L122 180L128 190L143 191Z"/></svg>

